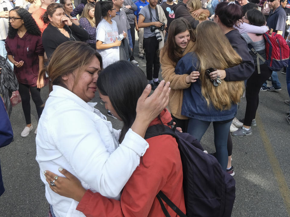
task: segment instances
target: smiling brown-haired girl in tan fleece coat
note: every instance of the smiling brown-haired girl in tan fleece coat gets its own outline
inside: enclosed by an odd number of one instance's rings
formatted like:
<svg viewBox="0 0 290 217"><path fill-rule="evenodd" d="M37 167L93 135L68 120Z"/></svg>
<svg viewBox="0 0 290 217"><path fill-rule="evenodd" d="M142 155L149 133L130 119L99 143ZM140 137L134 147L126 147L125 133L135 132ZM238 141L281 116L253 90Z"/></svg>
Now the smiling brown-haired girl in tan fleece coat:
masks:
<svg viewBox="0 0 290 217"><path fill-rule="evenodd" d="M175 74L177 62L188 52L193 51L195 33L190 23L183 17L173 20L169 26L167 40L160 50L161 74L165 81L170 81L168 108L172 118L176 119L176 126L187 132L188 117L181 115L183 89L190 87L199 76L199 72L189 75Z"/></svg>

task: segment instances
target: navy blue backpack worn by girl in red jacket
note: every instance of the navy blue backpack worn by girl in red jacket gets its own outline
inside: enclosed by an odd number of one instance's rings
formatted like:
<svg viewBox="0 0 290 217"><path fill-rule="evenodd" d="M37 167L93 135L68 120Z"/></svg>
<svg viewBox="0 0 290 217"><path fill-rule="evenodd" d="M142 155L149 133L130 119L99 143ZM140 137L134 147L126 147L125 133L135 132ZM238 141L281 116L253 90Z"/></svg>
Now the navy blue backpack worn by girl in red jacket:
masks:
<svg viewBox="0 0 290 217"><path fill-rule="evenodd" d="M230 217L236 197L234 178L222 170L214 156L204 153L199 141L190 134L157 124L148 127L145 139L159 135L171 135L178 143L186 208L185 215L159 191L156 197L165 216L170 217L163 201L180 217Z"/></svg>

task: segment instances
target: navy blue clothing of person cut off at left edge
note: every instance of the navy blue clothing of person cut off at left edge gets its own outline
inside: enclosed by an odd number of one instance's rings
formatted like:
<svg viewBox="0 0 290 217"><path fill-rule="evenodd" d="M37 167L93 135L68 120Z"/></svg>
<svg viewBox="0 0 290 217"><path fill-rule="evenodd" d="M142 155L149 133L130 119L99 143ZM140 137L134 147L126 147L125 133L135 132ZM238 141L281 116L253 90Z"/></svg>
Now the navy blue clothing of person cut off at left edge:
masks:
<svg viewBox="0 0 290 217"><path fill-rule="evenodd" d="M0 99L0 148L7 146L13 140L13 131L8 114L4 107L2 99ZM2 181L1 165L0 165L0 196L4 193L4 185Z"/></svg>

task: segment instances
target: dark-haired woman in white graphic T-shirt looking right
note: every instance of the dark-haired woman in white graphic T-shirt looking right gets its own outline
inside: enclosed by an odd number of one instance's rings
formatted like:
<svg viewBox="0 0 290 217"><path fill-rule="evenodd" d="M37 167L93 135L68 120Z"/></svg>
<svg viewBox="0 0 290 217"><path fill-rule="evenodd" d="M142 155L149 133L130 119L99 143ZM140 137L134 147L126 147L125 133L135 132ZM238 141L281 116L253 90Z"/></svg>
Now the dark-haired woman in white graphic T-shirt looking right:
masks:
<svg viewBox="0 0 290 217"><path fill-rule="evenodd" d="M112 20L115 16L116 8L113 7L112 1L100 0L96 3L96 49L102 56L104 68L120 60L119 46L121 41L117 39L119 35L117 23Z"/></svg>

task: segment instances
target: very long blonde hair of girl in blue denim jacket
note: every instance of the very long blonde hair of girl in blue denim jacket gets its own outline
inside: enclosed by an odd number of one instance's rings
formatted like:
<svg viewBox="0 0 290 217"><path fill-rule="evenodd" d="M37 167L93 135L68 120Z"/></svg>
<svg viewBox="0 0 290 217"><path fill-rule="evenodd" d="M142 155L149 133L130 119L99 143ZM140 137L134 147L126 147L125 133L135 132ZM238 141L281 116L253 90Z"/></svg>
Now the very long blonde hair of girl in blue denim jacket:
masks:
<svg viewBox="0 0 290 217"><path fill-rule="evenodd" d="M234 51L227 37L218 24L206 20L196 28L196 42L194 52L200 61L201 93L210 106L219 110L230 109L232 103L237 104L244 92L244 81L225 81L215 87L205 76L208 68L234 67L242 62L242 58Z"/></svg>

